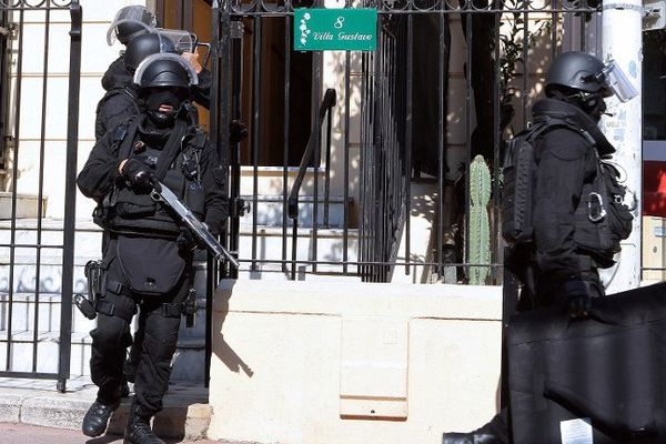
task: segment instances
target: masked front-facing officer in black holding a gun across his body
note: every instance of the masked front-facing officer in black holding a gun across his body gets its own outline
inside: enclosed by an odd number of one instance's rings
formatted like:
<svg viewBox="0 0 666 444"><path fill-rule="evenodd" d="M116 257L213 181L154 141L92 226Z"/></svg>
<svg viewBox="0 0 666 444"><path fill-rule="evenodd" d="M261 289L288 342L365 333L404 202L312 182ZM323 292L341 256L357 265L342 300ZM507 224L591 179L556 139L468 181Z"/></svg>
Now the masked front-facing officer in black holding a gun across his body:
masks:
<svg viewBox="0 0 666 444"><path fill-rule="evenodd" d="M147 109L110 130L94 145L77 179L81 192L103 202L109 234L102 260L103 295L91 332L95 402L84 416L88 436L101 435L118 407L130 322L145 317L142 356L125 430L128 444L163 443L150 420L162 408L169 385L183 303L192 286L192 235L151 198L152 183L169 186L218 234L228 218L224 169L205 134L192 127L184 104L196 73L180 56L147 59L134 74Z"/></svg>

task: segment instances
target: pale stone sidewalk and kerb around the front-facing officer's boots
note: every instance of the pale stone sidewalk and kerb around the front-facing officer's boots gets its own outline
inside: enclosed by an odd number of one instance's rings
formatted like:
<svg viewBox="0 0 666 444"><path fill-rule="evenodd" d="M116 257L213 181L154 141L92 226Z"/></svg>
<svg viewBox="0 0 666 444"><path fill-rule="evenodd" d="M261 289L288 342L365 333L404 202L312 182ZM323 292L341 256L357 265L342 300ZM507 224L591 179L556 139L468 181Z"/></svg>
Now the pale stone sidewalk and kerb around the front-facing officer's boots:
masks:
<svg viewBox="0 0 666 444"><path fill-rule="evenodd" d="M56 381L0 379L0 443L110 444L122 443L131 397L122 401L109 422L109 436L88 438L81 433L83 415L95 398L88 377L69 380L67 392ZM211 420L208 389L171 385L153 430L168 443L213 443L205 437ZM14 436L9 437L9 436ZM22 440L22 441L21 441ZM60 440L60 441L58 441Z"/></svg>

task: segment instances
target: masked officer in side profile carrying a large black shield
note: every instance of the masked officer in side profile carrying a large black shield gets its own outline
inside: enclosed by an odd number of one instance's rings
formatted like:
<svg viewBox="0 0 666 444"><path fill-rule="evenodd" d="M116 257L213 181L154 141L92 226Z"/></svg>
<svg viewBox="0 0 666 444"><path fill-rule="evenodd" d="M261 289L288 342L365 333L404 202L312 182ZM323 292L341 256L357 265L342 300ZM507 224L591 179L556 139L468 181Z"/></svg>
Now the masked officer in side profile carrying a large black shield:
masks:
<svg viewBox="0 0 666 444"><path fill-rule="evenodd" d="M603 209L594 198L602 193L595 189L599 159L615 152L597 127L606 111L604 99L614 93L630 99L616 90L612 71L594 56L565 52L551 65L546 99L533 108L533 125L547 125L534 145L533 242L514 245L505 263L523 284L518 311L562 302L572 317L587 316L591 299L604 295L597 269L614 265L619 240L629 235L633 216L627 206L604 195L603 205L617 208ZM613 220L602 225L596 216L606 212ZM507 423L503 408L472 433L444 433L443 443L506 444Z"/></svg>

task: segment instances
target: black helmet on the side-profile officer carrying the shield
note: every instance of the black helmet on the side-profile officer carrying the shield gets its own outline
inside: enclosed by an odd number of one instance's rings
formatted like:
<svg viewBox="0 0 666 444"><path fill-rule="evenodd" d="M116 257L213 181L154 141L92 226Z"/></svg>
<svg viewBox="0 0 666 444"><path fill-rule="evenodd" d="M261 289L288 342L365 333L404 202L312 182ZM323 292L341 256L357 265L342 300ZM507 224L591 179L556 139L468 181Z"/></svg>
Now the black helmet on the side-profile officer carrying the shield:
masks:
<svg viewBox="0 0 666 444"><path fill-rule="evenodd" d="M584 92L613 95L604 74L605 64L592 54L569 51L561 54L546 75L546 93L558 87Z"/></svg>

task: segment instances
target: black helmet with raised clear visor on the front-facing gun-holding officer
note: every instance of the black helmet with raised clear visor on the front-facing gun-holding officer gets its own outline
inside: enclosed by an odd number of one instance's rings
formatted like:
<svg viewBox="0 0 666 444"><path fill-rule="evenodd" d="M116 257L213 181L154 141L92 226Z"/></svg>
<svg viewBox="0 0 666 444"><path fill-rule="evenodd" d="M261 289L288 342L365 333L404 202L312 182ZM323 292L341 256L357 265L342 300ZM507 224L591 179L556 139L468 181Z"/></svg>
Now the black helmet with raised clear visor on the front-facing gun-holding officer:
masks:
<svg viewBox="0 0 666 444"><path fill-rule="evenodd" d="M134 72L134 83L140 88L190 88L199 79L192 65L181 56L157 53L144 59Z"/></svg>

